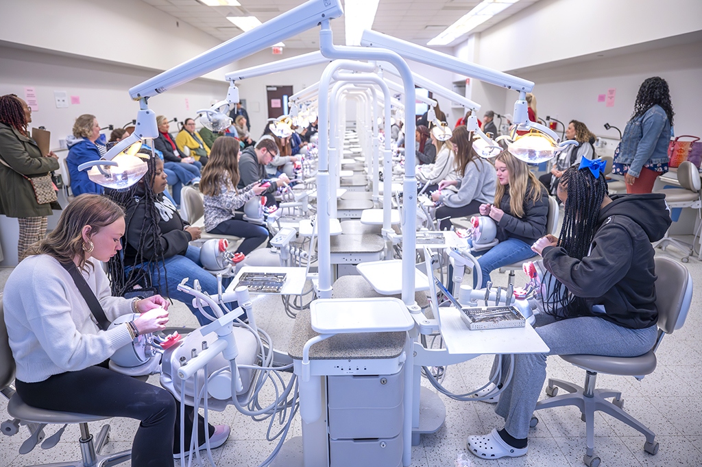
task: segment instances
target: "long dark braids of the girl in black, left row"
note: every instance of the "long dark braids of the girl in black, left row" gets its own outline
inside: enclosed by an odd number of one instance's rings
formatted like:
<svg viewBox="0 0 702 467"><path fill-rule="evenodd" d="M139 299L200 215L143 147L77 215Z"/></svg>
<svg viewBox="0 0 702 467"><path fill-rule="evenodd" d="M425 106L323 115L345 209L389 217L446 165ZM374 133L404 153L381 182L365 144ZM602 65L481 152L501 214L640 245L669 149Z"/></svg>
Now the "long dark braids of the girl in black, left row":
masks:
<svg viewBox="0 0 702 467"><path fill-rule="evenodd" d="M134 291L135 289L140 289L141 287L152 287L152 284L159 284L161 282L161 270L159 268L152 268L152 266L157 265L159 262L164 261L164 250L161 246L161 228L159 228L159 212L156 207L156 202L158 195L154 193L153 184L154 178L156 178L157 161L160 161L156 154L147 149L139 150L142 154L149 154L149 159L146 159L148 166L148 171L145 173L143 178L139 183L135 183L129 188L124 190L112 190L110 188L105 189L105 195L112 199L112 201L119 204L119 206L128 211L129 206L133 204L144 204L145 216L142 225L139 228L140 237L139 245L135 248L136 256L134 258L135 267L132 268L128 273L124 272L124 254L116 254L110 258L110 262L107 263L108 272L112 278L112 295L123 296L127 292ZM127 225L130 218L126 219ZM145 259L144 257L144 245L147 243L147 239L150 238L150 243L154 245L154 254L151 258ZM126 236L122 239L123 246L126 246ZM124 252L124 250L123 250ZM141 265L139 267L139 265ZM158 274L158 280L154 281L151 278L152 270L156 270ZM168 275L165 273L164 277L166 282L168 282ZM160 291L161 294L166 294L168 296L168 289L165 291Z"/></svg>

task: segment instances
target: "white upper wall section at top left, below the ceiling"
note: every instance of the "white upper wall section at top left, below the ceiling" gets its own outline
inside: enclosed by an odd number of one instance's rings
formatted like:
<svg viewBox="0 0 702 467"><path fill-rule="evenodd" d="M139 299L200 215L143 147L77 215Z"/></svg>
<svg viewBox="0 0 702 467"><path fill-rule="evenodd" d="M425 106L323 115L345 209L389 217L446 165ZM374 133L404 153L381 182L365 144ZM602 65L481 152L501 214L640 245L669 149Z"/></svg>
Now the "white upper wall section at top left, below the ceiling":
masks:
<svg viewBox="0 0 702 467"><path fill-rule="evenodd" d="M152 70L220 44L141 0L4 0L2 13L0 40Z"/></svg>

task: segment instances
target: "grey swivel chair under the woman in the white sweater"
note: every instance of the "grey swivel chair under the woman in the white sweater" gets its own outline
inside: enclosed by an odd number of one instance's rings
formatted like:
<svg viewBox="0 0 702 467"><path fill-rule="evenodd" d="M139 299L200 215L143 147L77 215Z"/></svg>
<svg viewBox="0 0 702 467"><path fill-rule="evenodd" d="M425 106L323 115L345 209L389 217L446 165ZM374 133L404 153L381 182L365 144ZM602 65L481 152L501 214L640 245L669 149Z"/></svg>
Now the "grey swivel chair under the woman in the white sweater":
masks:
<svg viewBox="0 0 702 467"><path fill-rule="evenodd" d="M110 425L102 426L97 438L91 435L88 430L88 422L105 420L110 417L74 414L70 412L55 412L53 410L37 409L31 407L20 399L15 393L12 383L15 379L15 360L8 343L7 328L5 327L5 315L2 304L2 294L0 294L0 392L8 397L9 402L7 412L13 417L12 421L2 424L3 432L6 435L18 433L20 423L29 424L31 435L20 447L21 454L27 454L44 439L44 427L48 423L79 423L81 436L79 438L81 448L81 459L73 462L58 462L44 464L51 467L102 467L114 466L117 463L126 462L131 459L131 449L110 455L102 455L100 451L107 442L110 433ZM62 431L62 430L60 430ZM58 433L57 433L58 434ZM58 437L52 435L44 440L42 447L53 447L58 442ZM52 439L53 438L53 439ZM49 442L51 440L51 442Z"/></svg>

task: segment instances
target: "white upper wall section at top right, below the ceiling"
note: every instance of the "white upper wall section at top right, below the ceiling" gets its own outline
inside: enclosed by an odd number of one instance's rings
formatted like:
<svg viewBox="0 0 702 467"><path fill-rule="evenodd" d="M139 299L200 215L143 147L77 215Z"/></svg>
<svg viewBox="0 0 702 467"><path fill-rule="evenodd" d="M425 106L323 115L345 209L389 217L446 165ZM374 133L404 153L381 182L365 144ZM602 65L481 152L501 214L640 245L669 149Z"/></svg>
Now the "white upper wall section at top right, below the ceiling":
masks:
<svg viewBox="0 0 702 467"><path fill-rule="evenodd" d="M480 33L481 65L508 71L702 29L698 0L541 0Z"/></svg>

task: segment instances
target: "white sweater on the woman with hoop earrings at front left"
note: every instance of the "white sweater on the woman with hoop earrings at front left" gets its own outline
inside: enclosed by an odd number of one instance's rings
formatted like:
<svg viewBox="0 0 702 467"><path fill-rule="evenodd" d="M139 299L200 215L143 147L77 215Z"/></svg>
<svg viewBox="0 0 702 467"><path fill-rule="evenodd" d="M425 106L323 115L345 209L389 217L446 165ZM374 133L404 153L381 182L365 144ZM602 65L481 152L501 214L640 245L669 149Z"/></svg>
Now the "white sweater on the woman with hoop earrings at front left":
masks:
<svg viewBox="0 0 702 467"><path fill-rule="evenodd" d="M83 277L107 319L131 313L131 301L110 295L100 264L88 270ZM22 261L5 284L3 304L17 378L25 383L91 367L132 340L126 326L100 331L71 275L51 256Z"/></svg>

